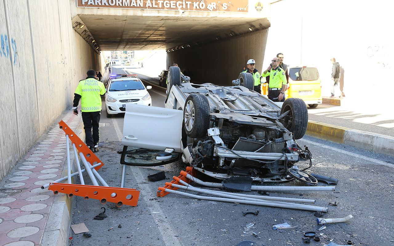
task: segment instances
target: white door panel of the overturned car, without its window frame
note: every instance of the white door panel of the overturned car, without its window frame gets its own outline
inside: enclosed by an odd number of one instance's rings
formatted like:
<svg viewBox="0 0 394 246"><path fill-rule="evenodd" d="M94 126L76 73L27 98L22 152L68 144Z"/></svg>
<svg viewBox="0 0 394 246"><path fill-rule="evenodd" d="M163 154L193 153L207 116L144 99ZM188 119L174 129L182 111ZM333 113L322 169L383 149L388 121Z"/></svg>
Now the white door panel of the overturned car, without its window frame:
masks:
<svg viewBox="0 0 394 246"><path fill-rule="evenodd" d="M127 104L122 145L181 152L183 111Z"/></svg>

